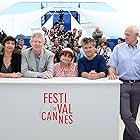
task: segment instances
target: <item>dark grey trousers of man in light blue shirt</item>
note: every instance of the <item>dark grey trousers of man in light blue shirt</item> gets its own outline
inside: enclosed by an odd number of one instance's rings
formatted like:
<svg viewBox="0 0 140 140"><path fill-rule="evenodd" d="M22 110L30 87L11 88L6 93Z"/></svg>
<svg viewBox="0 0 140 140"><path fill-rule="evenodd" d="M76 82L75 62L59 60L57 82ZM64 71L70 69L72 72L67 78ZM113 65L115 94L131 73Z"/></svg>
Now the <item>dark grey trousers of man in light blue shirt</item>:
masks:
<svg viewBox="0 0 140 140"><path fill-rule="evenodd" d="M136 117L140 104L140 82L124 82L120 87L120 114L125 124L123 140L140 140Z"/></svg>

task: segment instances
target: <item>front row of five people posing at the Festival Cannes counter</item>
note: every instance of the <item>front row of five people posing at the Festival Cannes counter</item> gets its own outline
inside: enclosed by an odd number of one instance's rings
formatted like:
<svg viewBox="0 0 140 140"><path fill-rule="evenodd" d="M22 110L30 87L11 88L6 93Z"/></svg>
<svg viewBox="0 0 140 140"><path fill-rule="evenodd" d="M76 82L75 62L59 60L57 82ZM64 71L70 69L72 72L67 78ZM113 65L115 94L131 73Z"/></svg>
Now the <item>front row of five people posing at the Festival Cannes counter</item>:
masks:
<svg viewBox="0 0 140 140"><path fill-rule="evenodd" d="M140 43L136 26L125 29L125 42L115 46L108 60L96 53L96 40L83 38L84 56L74 63L71 48L60 51L60 62L54 64L54 53L44 47L44 36L34 33L31 47L21 54L14 54L15 38L8 36L2 44L0 55L0 77L33 77L50 79L53 77L84 77L90 80L106 77L120 79L120 114L125 124L123 140L140 140L140 130L136 117L140 104Z"/></svg>

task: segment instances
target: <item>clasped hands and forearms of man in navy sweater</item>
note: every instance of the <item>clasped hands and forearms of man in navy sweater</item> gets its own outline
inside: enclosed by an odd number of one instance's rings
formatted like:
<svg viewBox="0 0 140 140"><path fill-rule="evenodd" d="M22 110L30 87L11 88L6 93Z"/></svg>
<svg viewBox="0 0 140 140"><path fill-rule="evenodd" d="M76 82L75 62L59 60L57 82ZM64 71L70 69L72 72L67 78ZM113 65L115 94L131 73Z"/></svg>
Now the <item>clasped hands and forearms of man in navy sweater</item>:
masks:
<svg viewBox="0 0 140 140"><path fill-rule="evenodd" d="M103 78L105 77L105 73L104 72L95 72L95 70L88 72L82 72L81 74L82 77L90 79L90 80L95 80L95 79L99 79L99 78Z"/></svg>

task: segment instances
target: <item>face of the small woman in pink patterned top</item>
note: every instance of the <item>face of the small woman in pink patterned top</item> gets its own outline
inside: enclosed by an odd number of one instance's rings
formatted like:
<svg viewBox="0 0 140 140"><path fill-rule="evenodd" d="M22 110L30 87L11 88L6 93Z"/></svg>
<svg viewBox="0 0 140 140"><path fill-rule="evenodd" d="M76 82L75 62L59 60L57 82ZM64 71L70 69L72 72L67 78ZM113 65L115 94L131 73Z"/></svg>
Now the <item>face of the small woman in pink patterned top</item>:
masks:
<svg viewBox="0 0 140 140"><path fill-rule="evenodd" d="M60 57L60 61L64 64L70 64L72 60L71 54L70 53L64 53Z"/></svg>

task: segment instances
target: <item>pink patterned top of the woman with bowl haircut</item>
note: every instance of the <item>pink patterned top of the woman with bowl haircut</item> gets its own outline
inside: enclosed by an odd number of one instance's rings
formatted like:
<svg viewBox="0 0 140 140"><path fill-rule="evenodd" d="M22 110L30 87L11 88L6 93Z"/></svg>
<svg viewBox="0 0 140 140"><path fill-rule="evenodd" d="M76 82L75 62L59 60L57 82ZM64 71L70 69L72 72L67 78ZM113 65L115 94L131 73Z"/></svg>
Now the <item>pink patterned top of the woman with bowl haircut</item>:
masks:
<svg viewBox="0 0 140 140"><path fill-rule="evenodd" d="M77 77L77 76L78 70L76 63L70 63L67 70L64 69L61 62L56 63L54 65L54 77Z"/></svg>

